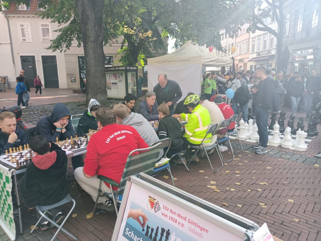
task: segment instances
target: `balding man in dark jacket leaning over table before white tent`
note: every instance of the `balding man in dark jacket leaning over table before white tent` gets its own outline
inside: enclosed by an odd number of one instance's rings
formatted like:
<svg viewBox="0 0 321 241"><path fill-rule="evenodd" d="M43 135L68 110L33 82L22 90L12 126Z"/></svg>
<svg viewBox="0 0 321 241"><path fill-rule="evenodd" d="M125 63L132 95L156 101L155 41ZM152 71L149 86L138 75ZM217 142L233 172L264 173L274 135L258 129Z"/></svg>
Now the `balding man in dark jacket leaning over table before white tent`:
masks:
<svg viewBox="0 0 321 241"><path fill-rule="evenodd" d="M174 114L174 105L182 98L182 91L178 83L167 79L167 75L158 76L158 84L155 85L153 92L156 94L157 104L165 103L169 106L169 114Z"/></svg>

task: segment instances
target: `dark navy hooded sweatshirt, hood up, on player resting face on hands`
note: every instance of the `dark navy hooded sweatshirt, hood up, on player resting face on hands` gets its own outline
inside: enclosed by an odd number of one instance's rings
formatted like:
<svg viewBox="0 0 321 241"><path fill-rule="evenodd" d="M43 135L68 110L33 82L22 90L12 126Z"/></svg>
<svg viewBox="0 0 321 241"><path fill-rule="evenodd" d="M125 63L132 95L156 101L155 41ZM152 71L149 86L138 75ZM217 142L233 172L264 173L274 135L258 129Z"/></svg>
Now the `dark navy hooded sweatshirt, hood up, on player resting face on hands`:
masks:
<svg viewBox="0 0 321 241"><path fill-rule="evenodd" d="M59 121L62 117L69 116L69 122L65 126L66 131L64 133L56 131L55 122ZM75 136L73 125L70 121L70 112L68 108L62 104L57 103L51 112L51 115L42 117L36 126L35 135L41 135L48 139L48 141L56 142L56 137L58 140L65 140L66 138Z"/></svg>

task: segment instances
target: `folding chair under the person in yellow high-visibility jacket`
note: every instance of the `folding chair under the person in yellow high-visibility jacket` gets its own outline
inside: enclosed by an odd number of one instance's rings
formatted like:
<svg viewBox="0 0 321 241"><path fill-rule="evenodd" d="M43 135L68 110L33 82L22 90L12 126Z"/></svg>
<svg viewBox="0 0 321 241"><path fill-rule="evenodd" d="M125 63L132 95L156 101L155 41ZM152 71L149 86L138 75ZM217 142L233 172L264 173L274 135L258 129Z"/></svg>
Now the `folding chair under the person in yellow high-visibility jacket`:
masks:
<svg viewBox="0 0 321 241"><path fill-rule="evenodd" d="M211 169L212 169L212 171L213 171L214 173L217 173L217 172L223 167L223 164L224 164L224 163L223 163L223 159L222 159L222 157L221 157L221 154L220 154L219 150L217 149L217 148L218 148L217 143L215 142L213 145L211 145L211 146L209 146L209 147L205 147L205 145L204 145L204 140L206 139L207 135L208 135L209 133L212 133L212 136L213 136L213 135L216 135L217 130L218 130L218 124L210 125L210 126L208 127L208 129L207 129L206 135L205 135L204 139L202 140L201 144L200 144L199 146L190 146L190 148L195 149L196 151L195 151L194 156L193 156L193 157L191 158L191 160L187 163L187 166L191 163L191 161L192 161L195 157L200 156L200 155L202 154L201 152L199 152L199 150L203 150L203 151L205 152L206 156L207 156L207 160L208 160L208 162L210 163ZM212 150L214 147L216 148L217 154L218 154L218 156L220 157L220 160L221 160L221 163L222 163L221 167L220 167L219 169L217 169L216 171L214 171L213 166L212 166L212 163L211 163L211 160L210 160L210 158L208 157L208 154L207 154L207 151Z"/></svg>

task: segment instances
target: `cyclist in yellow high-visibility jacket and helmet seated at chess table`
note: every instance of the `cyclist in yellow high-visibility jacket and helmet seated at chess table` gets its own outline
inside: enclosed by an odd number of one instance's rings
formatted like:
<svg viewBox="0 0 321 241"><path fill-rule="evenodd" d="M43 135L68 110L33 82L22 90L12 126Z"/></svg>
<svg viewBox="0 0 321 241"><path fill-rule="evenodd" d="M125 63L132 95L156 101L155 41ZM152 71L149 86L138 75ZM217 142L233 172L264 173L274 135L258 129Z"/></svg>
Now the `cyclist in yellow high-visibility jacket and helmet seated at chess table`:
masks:
<svg viewBox="0 0 321 241"><path fill-rule="evenodd" d="M185 157L191 157L191 151L188 146L199 146L206 136L208 127L211 125L211 117L208 110L200 105L200 98L196 94L187 96L184 105L187 105L189 114L175 114L175 118L180 117L182 120L187 121L185 125L185 134L183 135L184 149L186 150ZM204 139L204 143L211 142L212 134L209 133ZM194 159L198 161L198 157Z"/></svg>

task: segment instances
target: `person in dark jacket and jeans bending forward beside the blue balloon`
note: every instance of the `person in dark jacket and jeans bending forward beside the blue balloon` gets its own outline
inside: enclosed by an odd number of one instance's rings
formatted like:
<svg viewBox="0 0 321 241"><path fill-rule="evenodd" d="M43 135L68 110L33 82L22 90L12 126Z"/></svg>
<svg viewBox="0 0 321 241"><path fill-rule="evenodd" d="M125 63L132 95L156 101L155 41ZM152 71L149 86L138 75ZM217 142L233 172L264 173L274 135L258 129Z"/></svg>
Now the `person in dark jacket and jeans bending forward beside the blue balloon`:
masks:
<svg viewBox="0 0 321 241"><path fill-rule="evenodd" d="M243 121L247 122L248 101L252 99L251 90L254 85L246 85L239 87L233 97L232 109L234 114L242 112Z"/></svg>

